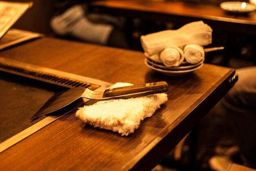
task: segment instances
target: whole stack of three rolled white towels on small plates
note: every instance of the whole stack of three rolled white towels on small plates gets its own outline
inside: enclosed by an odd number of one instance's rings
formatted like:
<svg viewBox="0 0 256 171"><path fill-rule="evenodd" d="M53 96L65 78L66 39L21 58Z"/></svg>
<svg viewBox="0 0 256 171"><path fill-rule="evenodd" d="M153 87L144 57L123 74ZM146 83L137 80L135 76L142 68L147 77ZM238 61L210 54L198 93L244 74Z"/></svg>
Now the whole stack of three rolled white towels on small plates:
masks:
<svg viewBox="0 0 256 171"><path fill-rule="evenodd" d="M184 58L188 59L186 61L191 64L202 61L204 58L203 46L211 44L211 41L212 29L202 21L191 22L177 30L165 30L141 36L141 45L145 56L151 57L158 54L159 60L166 67L177 67ZM181 53L178 49L183 49L183 47L185 49ZM184 58L183 53L186 53ZM199 53L201 55L197 55ZM178 58L178 54L180 54L180 58ZM197 57L198 59L195 59Z"/></svg>

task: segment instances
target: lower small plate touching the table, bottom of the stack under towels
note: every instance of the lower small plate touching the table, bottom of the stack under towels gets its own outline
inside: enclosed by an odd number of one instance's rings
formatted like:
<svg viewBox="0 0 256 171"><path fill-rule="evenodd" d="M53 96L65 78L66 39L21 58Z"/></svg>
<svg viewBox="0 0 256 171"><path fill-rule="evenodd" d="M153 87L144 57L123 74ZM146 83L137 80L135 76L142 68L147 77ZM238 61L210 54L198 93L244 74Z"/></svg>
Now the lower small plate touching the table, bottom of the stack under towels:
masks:
<svg viewBox="0 0 256 171"><path fill-rule="evenodd" d="M164 69L158 69L158 68L155 68L154 66L150 65L147 60L145 59L144 60L145 64L147 67L149 67L150 69L153 69L159 73L162 73L164 75L167 75L167 76L181 76L181 75L184 75L186 73L191 73L199 68L201 68L203 66L204 63L200 64L198 67L196 68L193 68L193 69L189 69L189 70L182 70L182 71L169 71L169 70L164 70Z"/></svg>

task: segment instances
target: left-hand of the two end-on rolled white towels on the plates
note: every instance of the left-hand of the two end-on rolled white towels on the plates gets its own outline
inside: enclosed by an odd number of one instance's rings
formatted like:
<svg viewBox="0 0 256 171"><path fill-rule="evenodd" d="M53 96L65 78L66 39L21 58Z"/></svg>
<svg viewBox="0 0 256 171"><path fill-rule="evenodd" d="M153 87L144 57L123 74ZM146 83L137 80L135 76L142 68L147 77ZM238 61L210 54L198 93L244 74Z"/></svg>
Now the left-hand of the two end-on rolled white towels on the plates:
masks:
<svg viewBox="0 0 256 171"><path fill-rule="evenodd" d="M169 46L160 53L160 60L166 67L178 67L184 61L184 53L177 46Z"/></svg>

